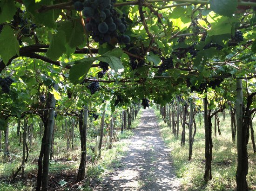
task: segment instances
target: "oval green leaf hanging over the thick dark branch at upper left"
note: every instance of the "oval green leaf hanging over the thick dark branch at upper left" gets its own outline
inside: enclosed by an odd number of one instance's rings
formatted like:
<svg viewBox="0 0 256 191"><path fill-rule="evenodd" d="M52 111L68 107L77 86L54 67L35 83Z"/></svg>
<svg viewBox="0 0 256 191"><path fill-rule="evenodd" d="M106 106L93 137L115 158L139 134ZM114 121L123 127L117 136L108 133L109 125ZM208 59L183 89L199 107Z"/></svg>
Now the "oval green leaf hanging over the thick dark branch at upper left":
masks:
<svg viewBox="0 0 256 191"><path fill-rule="evenodd" d="M47 57L57 60L66 51L65 32L59 31L55 34L50 42L49 49L46 52Z"/></svg>

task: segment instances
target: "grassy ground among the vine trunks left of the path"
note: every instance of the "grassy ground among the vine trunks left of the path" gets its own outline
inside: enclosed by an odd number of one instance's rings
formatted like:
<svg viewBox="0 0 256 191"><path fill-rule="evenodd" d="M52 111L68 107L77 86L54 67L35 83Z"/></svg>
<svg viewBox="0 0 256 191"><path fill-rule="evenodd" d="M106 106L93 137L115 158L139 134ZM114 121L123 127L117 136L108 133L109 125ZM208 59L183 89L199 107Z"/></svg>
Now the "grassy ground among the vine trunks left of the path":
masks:
<svg viewBox="0 0 256 191"><path fill-rule="evenodd" d="M139 124L141 111L137 115L137 119L132 121L132 128L135 128ZM55 132L56 133L56 132ZM79 132L76 132L76 139L74 139L74 150L67 150L67 142L63 137L63 133L57 132L61 136L54 138L54 160L50 161L49 174L57 175L61 173L66 173L76 176L76 171L79 168L81 148L79 140ZM97 158L89 146L95 145L95 137L88 136L87 144L88 150L87 155L91 157L91 160L87 161L87 180L84 181L82 185L77 188L78 190L90 191L89 179L96 178L101 179L103 176L112 172L114 168L121 165L121 159L127 153L130 141L128 138L133 136L132 130L125 129L121 134L120 128L117 128L116 134L118 136L118 141L113 143L112 149L107 149L107 136L103 137L101 157ZM14 184L9 183L12 177L12 172L16 172L17 168L21 164L22 157L22 146L18 146L18 137L15 132L10 136L10 152L14 153L10 162L4 162L0 158L0 191L32 191L35 186L35 179L37 175L37 159L40 152L40 140L34 138L33 146L29 153L27 163L25 164L25 179L20 179L18 176L18 181ZM63 179L63 178L62 178ZM27 181L29 180L29 181ZM66 187L68 189L68 187Z"/></svg>

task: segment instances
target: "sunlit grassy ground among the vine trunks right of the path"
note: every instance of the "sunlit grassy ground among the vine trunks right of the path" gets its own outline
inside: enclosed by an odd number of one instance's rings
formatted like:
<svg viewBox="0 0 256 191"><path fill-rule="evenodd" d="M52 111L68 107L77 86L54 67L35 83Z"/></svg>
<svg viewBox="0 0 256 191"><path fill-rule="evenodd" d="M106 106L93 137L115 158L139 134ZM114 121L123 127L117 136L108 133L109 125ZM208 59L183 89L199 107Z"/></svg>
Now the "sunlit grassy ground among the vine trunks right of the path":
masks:
<svg viewBox="0 0 256 191"><path fill-rule="evenodd" d="M193 144L193 156L191 161L189 157L188 133L186 127L186 145L181 147L181 133L178 139L174 137L171 129L167 127L162 120L160 112L155 110L161 127L162 139L172 149L171 156L176 168L176 174L181 178L182 190L188 191L234 191L236 189L236 143L232 142L230 118L226 112L226 119L223 121L220 116L220 129L222 136L214 136L213 127L213 161L212 176L213 179L208 184L204 184L204 127L199 125L199 119L196 119L197 131L195 142ZM214 121L213 121L214 122ZM214 123L213 123L214 124ZM254 121L255 124L255 121ZM181 126L180 126L181 127ZM255 125L254 125L255 127ZM248 143L249 153L249 172L247 181L251 191L256 190L256 154L253 153L252 143Z"/></svg>

